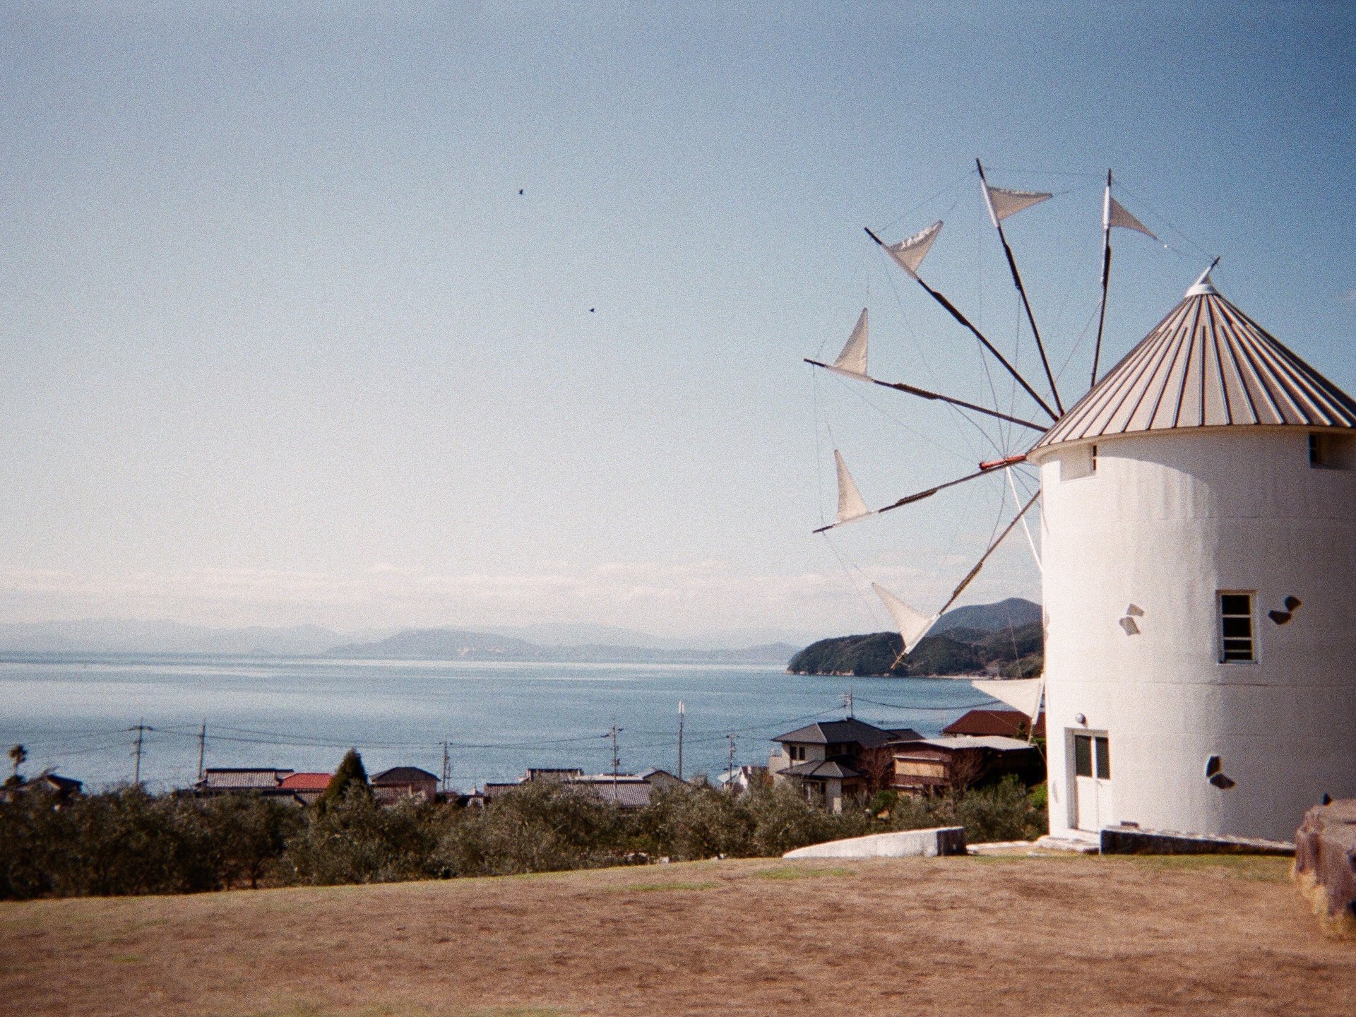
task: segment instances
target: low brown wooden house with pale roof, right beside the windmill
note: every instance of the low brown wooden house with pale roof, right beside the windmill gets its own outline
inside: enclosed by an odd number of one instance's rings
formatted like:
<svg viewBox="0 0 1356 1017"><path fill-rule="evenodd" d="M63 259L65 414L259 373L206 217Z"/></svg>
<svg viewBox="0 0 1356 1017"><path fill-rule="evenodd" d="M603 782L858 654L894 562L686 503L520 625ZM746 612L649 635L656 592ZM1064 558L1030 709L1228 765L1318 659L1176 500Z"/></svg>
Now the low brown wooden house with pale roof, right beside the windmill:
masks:
<svg viewBox="0 0 1356 1017"><path fill-rule="evenodd" d="M993 782L1009 773L1026 784L1045 773L1040 751L1002 735L944 735L915 738L890 746L894 773L890 786L910 795Z"/></svg>

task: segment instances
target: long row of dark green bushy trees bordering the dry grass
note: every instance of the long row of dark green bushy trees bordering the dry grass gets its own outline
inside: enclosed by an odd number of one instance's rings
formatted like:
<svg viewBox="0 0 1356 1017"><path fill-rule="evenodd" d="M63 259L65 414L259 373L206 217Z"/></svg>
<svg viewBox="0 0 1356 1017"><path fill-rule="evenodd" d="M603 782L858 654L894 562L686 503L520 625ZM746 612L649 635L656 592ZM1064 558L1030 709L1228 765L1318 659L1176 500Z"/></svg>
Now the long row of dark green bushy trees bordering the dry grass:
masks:
<svg viewBox="0 0 1356 1017"><path fill-rule="evenodd" d="M355 754L354 754L355 755ZM1016 780L932 797L890 792L842 814L792 784L731 793L704 781L656 789L626 812L589 788L533 781L464 808L416 797L381 805L347 761L312 807L258 795L193 797L126 786L0 803L0 899L194 894L241 887L385 883L780 856L888 830L964 826L971 842L1044 833ZM339 773L336 773L336 778ZM334 792L334 793L331 793Z"/></svg>

